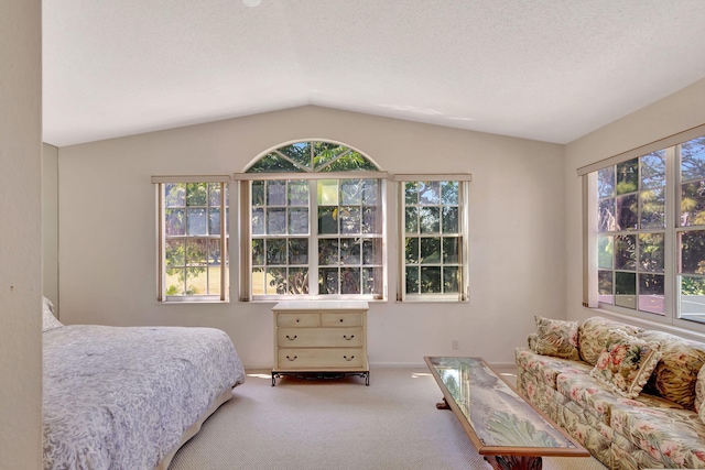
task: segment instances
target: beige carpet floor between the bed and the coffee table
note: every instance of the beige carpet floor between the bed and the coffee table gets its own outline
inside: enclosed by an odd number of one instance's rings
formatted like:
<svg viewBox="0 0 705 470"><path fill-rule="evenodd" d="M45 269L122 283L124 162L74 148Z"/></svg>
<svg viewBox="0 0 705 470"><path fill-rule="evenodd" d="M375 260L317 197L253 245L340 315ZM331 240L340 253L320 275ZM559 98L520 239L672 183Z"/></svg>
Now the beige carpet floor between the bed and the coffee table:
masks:
<svg viewBox="0 0 705 470"><path fill-rule="evenodd" d="M490 469L422 368L304 381L248 374L170 470ZM543 458L546 470L605 470L594 458Z"/></svg>

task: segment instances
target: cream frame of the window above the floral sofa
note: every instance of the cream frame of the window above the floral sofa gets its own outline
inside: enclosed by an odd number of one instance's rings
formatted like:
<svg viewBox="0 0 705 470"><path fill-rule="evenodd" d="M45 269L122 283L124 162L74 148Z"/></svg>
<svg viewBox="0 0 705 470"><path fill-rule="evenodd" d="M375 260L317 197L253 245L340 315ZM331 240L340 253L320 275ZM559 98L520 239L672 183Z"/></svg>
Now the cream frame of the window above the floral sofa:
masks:
<svg viewBox="0 0 705 470"><path fill-rule="evenodd" d="M577 168L577 175L583 178L583 306L604 310L611 314L632 317L644 321L662 324L681 331L692 331L696 335L705 334L705 324L681 318L680 313L680 274L679 274L679 241L677 234L688 230L705 230L705 226L681 227L677 215L681 204L680 181L680 145L705 135L705 125L688 129L684 132L630 150L612 157ZM641 311L637 308L622 308L616 305L603 304L598 299L597 288L597 172L601 168L617 165L621 162L641 157L652 152L663 150L666 154L666 185L665 185L665 241L664 241L664 315ZM632 233L640 233L634 230Z"/></svg>

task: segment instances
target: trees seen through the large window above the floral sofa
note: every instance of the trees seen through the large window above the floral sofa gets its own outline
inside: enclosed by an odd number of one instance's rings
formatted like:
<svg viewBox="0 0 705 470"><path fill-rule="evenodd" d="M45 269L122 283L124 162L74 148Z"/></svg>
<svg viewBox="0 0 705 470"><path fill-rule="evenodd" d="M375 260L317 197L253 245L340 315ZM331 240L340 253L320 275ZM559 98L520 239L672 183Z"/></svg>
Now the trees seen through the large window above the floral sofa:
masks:
<svg viewBox="0 0 705 470"><path fill-rule="evenodd" d="M596 172L601 306L705 324L705 138Z"/></svg>

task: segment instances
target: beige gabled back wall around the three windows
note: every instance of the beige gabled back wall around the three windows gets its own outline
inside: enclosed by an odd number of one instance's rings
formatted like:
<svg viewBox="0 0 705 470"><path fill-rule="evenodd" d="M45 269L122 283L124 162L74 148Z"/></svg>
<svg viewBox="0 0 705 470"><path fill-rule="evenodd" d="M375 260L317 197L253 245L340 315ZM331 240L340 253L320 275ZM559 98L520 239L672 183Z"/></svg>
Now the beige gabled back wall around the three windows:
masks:
<svg viewBox="0 0 705 470"><path fill-rule="evenodd" d="M61 147L62 320L213 326L230 335L246 367L271 367L272 303L156 303L150 176L231 174L261 152L301 139L347 143L390 173L473 173L470 302L395 303L397 271L390 270L390 300L370 308L371 363L421 364L426 354L510 363L514 346L534 328L533 315L564 317L562 145L303 107ZM231 192L231 206L236 197ZM392 201L390 209L394 222ZM234 234L236 227L231 220ZM395 223L389 227L389 265L397 266ZM234 238L232 255L236 247ZM236 275L234 269L232 286Z"/></svg>

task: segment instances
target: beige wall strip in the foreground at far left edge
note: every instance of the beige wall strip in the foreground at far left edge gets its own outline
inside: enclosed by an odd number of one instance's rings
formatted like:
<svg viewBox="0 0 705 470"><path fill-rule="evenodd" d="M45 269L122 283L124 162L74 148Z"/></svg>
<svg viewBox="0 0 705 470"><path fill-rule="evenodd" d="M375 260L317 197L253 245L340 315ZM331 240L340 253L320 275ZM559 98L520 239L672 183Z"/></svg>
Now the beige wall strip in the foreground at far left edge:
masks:
<svg viewBox="0 0 705 470"><path fill-rule="evenodd" d="M0 2L0 469L42 467L41 8Z"/></svg>

